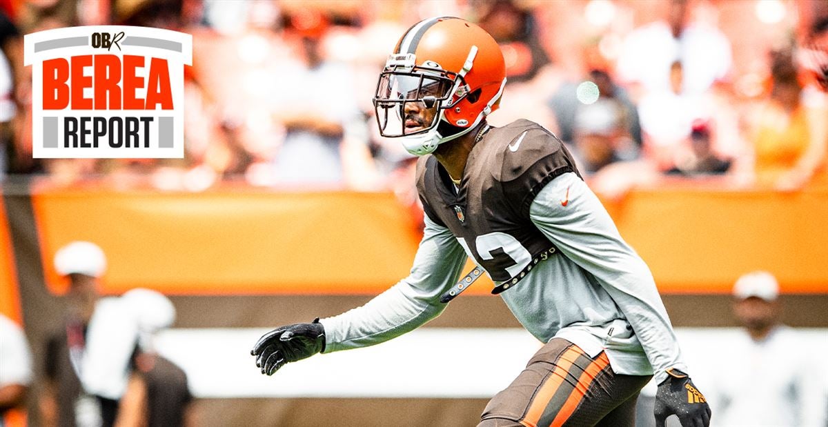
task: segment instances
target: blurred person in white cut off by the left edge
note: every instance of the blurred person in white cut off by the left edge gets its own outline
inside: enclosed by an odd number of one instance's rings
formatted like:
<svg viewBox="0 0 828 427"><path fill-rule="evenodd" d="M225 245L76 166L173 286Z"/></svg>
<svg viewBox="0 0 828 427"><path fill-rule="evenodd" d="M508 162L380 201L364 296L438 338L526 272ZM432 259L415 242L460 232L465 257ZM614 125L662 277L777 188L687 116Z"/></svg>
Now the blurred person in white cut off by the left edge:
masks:
<svg viewBox="0 0 828 427"><path fill-rule="evenodd" d="M31 353L26 336L12 319L0 314L0 426L22 415L31 384ZM8 418L7 418L8 417Z"/></svg>

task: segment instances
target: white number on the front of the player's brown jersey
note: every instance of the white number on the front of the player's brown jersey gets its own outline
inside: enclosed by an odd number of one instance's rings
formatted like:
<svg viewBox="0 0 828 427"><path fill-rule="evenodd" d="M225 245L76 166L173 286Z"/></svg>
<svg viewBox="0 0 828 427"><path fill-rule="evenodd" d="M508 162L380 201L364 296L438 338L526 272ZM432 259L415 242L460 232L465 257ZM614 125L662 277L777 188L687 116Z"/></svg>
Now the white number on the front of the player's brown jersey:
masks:
<svg viewBox="0 0 828 427"><path fill-rule="evenodd" d="M466 254L489 273L493 281L508 281L532 262L532 254L511 234L493 232L474 239L479 257L469 250L469 243L457 237Z"/></svg>

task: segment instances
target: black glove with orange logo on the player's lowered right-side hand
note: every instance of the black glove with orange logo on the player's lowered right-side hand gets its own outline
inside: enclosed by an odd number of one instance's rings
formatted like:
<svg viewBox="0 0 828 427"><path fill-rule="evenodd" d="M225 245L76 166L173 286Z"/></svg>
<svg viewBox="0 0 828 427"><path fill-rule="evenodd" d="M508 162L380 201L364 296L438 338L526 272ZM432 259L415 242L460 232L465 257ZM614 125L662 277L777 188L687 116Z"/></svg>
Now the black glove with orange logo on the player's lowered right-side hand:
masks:
<svg viewBox="0 0 828 427"><path fill-rule="evenodd" d="M710 425L710 405L705 396L678 369L667 369L667 379L658 385L654 412L657 427L664 427L664 420L672 414L678 416L681 427Z"/></svg>

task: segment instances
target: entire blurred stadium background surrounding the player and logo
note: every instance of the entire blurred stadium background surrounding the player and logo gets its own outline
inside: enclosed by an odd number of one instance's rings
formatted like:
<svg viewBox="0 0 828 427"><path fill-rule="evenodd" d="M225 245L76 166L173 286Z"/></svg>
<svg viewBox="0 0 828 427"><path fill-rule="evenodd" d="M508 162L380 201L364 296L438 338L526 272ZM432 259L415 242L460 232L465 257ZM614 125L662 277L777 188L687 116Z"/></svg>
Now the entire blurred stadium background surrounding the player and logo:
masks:
<svg viewBox="0 0 828 427"><path fill-rule="evenodd" d="M248 353L407 275L416 159L371 98L443 15L503 49L489 122L566 142L651 267L713 425L828 425L828 2L0 0L6 425L476 425L540 346L490 282L374 348ZM104 24L193 36L183 159L31 158L22 36Z"/></svg>

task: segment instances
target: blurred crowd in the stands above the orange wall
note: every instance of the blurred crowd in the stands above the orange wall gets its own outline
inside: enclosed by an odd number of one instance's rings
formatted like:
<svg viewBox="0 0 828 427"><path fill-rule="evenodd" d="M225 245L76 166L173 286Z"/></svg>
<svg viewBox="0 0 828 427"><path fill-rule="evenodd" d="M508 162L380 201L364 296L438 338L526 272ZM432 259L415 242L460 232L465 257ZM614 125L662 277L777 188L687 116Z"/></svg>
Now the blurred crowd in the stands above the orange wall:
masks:
<svg viewBox="0 0 828 427"><path fill-rule="evenodd" d="M452 0L251 2L2 0L0 173L158 190L221 181L397 190L414 159L378 135L371 97L397 36L467 17L501 43L508 87L494 125L555 132L607 197L665 176L797 190L821 180L826 2ZM194 36L183 160L31 158L22 35L60 26L159 26ZM10 65L10 66L8 66ZM816 70L816 73L814 72ZM823 76L824 77L824 76ZM824 180L824 179L823 179Z"/></svg>

